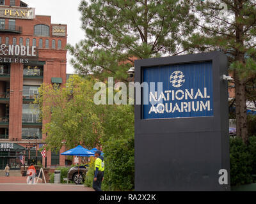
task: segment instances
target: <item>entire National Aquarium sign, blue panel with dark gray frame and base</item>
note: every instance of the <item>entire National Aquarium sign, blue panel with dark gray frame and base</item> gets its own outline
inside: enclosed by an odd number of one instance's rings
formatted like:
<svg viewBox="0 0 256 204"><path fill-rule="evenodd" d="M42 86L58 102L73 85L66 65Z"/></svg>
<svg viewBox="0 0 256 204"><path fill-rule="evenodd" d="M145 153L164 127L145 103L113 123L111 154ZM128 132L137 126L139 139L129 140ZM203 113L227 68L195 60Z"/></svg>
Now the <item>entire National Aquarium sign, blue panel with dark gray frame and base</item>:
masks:
<svg viewBox="0 0 256 204"><path fill-rule="evenodd" d="M230 191L227 55L134 61L136 191ZM138 87L138 86L137 86ZM224 178L224 179L223 179Z"/></svg>

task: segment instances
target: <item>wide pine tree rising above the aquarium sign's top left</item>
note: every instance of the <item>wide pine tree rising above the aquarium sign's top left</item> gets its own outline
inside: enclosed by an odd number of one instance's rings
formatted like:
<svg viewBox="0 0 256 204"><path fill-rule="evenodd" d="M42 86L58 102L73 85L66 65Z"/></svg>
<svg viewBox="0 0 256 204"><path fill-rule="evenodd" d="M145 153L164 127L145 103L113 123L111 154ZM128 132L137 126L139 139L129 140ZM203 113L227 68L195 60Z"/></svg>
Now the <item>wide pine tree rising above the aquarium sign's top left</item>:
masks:
<svg viewBox="0 0 256 204"><path fill-rule="evenodd" d="M127 81L134 59L178 55L193 26L189 5L179 0L82 0L86 38L68 45L78 73Z"/></svg>

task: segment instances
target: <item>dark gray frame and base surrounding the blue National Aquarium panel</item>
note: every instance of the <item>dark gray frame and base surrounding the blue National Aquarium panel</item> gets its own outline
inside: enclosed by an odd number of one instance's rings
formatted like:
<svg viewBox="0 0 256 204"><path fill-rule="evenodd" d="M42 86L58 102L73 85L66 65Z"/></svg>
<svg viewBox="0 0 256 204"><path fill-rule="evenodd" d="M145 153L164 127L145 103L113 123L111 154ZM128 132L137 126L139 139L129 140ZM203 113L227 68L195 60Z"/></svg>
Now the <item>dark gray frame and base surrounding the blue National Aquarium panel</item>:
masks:
<svg viewBox="0 0 256 204"><path fill-rule="evenodd" d="M212 61L213 116L142 119L143 103L135 105L136 191L230 191L227 55L137 60L134 82L143 82L143 68L204 61ZM227 185L219 183L221 169L228 171Z"/></svg>

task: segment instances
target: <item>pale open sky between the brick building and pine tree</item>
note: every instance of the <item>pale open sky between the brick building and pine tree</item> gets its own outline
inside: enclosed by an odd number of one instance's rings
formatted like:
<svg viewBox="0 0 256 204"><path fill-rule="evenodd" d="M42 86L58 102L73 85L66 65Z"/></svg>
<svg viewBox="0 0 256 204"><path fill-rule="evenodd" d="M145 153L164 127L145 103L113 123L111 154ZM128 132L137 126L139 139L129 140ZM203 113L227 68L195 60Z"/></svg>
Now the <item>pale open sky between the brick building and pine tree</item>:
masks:
<svg viewBox="0 0 256 204"><path fill-rule="evenodd" d="M81 27L81 15L78 11L80 0L22 0L35 8L36 15L51 15L52 24L67 24L68 43L75 45L84 38ZM67 54L67 73L74 73Z"/></svg>

